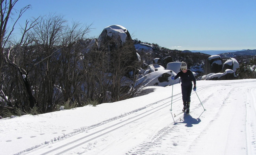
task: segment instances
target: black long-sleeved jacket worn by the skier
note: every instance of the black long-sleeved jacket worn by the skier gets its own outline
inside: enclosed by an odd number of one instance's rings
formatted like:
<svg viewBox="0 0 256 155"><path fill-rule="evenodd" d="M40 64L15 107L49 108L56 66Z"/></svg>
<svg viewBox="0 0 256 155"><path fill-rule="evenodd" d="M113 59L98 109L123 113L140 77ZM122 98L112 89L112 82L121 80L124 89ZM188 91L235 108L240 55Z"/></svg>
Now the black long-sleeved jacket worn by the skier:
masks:
<svg viewBox="0 0 256 155"><path fill-rule="evenodd" d="M174 77L174 79L177 79L178 77L180 77L181 79L181 85L182 86L189 86L192 85L192 81L194 82L194 85L196 85L196 78L193 75L193 72L191 70L187 70L186 73L182 72L182 70L180 72L178 72L178 74Z"/></svg>

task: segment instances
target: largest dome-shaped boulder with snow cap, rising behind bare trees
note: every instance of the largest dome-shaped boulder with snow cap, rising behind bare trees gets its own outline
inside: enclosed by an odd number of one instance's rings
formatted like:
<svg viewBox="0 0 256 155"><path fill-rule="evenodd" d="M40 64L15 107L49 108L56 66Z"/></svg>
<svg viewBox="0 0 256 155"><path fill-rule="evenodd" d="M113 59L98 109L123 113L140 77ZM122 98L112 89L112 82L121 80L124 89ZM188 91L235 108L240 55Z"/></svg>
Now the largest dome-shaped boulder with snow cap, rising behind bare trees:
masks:
<svg viewBox="0 0 256 155"><path fill-rule="evenodd" d="M108 55L109 70L120 63L123 68L127 67L127 72L130 72L134 69L130 66L140 60L129 31L120 25L104 28L98 39L93 39L89 44L86 52L90 51L105 52Z"/></svg>

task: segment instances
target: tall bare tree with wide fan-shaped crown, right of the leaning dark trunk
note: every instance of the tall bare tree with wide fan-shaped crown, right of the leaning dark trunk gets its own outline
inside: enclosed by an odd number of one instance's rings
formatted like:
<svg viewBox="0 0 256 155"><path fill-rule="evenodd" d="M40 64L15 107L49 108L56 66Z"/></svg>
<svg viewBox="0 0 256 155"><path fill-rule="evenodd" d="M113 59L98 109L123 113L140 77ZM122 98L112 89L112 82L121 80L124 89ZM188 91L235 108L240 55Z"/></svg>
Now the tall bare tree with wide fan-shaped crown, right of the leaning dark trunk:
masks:
<svg viewBox="0 0 256 155"><path fill-rule="evenodd" d="M41 17L39 24L33 30L33 40L37 45L37 52L42 61L37 63L37 71L41 74L40 85L41 90L41 109L43 112L50 112L53 110L55 99L54 91L58 91L56 80L59 74L59 54L60 49L58 45L61 43L63 31L67 28L66 20L61 16L50 14L48 17Z"/></svg>

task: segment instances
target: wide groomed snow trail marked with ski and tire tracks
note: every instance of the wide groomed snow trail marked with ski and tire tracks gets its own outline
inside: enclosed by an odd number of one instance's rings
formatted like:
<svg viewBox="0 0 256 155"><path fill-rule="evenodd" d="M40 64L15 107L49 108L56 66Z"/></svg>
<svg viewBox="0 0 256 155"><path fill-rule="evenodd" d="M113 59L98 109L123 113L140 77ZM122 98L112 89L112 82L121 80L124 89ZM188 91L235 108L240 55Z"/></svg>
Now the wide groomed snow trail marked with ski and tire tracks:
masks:
<svg viewBox="0 0 256 155"><path fill-rule="evenodd" d="M241 83L245 83L245 85L243 86ZM237 87L228 87L231 84L237 85ZM170 97L150 103L131 113L106 120L102 124L92 125L82 130L78 129L78 133L70 133L69 136L57 142L41 144L17 154L115 155L117 149L121 149L123 155L183 155L186 153L196 155L198 152L208 155L255 154L256 117L249 116L251 113L256 116L256 107L253 105L256 102L254 97L256 86L252 85L248 88L246 82L234 82L228 83L227 87L220 89L223 88L223 85L225 84L205 85L197 90L197 92L204 91L204 96L199 96L199 98L206 111L195 92L192 92L191 113L186 117L183 114L174 117L175 122L169 111ZM213 93L211 89L217 91ZM230 98L237 91L245 97ZM225 98L219 98L223 94L226 94ZM242 100L244 98L247 100ZM172 106L175 109L172 113L178 114L183 107L181 94L174 95L172 100ZM245 113L239 113L239 111L246 111L248 116L243 116ZM211 119L205 119L204 115L206 114L210 116L207 118ZM201 121L201 119L204 120ZM166 122L165 125L162 125L163 122ZM122 127L126 125L129 126L129 131L122 130ZM235 125L240 125L240 127L234 127ZM213 133L211 130L215 131L216 128L218 132L215 135L208 134ZM233 130L233 128L239 130ZM220 142L219 139L223 139L220 137L224 137L226 141ZM144 140L138 143L136 138ZM204 145L206 140L211 145ZM237 147L237 144L242 144L237 140L244 141L244 145ZM59 141L62 143L59 144ZM65 145L63 145L63 141L65 141ZM232 143L227 143L230 141ZM247 147L250 146L253 148L248 149L252 152L247 152Z"/></svg>

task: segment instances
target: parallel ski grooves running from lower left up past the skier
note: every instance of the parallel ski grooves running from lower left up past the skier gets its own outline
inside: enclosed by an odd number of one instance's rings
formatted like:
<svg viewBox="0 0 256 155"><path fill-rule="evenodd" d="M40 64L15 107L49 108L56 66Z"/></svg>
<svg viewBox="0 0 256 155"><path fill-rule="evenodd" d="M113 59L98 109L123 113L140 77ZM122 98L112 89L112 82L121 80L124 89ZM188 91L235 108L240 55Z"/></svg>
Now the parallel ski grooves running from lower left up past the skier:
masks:
<svg viewBox="0 0 256 155"><path fill-rule="evenodd" d="M241 83L241 82L234 82L234 84L235 83ZM202 86L197 90L197 92L203 91L203 90L208 89L209 87L213 87L215 85L223 85L223 84L213 84L213 85ZM170 94L171 94L171 92L170 92ZM63 139L63 140L67 141L67 143L64 145L61 145L63 143L61 143L59 145L58 142L54 142L53 144L50 144L50 145L52 145L50 148L48 147L48 145L44 145L44 146L38 147L36 149L32 149L31 151L26 152L25 154L41 154L41 155L63 154L67 151L70 151L71 149L74 149L78 146L81 146L83 144L91 142L92 140L95 140L96 138L102 137L103 135L113 132L124 125L128 125L128 124L135 122L141 118L144 118L148 115L154 114L157 111L160 111L161 109L164 109L167 107L169 108L171 105L171 100L172 100L173 104L182 100L181 93L174 95L173 98L168 97L163 100L151 103L141 109L137 109L135 111L130 112L128 115L122 115L122 116L115 117L113 119L109 119L108 121L106 121L103 124L92 125L92 127L90 129L86 130L86 132L82 132L82 133L76 134L72 137ZM152 106L154 106L154 108L152 108L152 109L148 108L148 107L152 107ZM145 110L145 112L139 113L139 114L134 114L134 113L136 113L138 111L142 111L142 110ZM118 119L120 120L120 122L115 121ZM117 123L115 123L115 122L117 122ZM91 133L90 133L90 131L91 131ZM70 140L70 139L72 139L72 140ZM42 152L44 152L44 153L42 153ZM23 153L19 153L19 154L24 154L24 151L23 151Z"/></svg>

